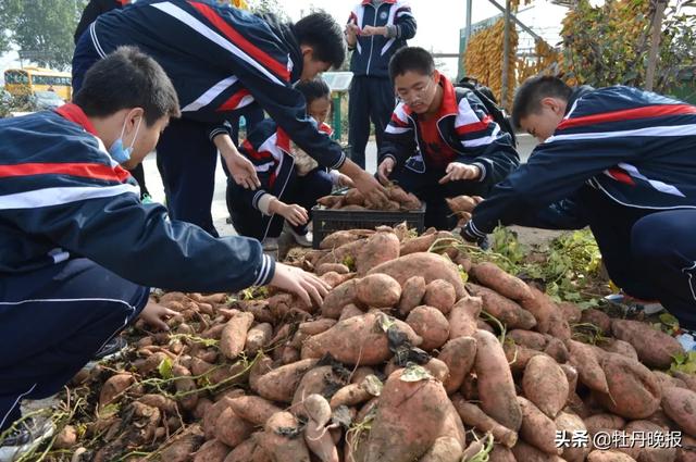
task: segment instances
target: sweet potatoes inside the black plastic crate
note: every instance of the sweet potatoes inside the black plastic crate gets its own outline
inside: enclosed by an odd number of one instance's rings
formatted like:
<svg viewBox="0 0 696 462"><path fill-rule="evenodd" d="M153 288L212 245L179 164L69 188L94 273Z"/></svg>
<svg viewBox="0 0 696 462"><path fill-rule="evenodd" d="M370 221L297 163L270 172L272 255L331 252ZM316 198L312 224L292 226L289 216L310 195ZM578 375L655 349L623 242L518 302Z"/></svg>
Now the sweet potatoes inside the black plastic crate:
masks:
<svg viewBox="0 0 696 462"><path fill-rule="evenodd" d="M383 211L408 211L420 210L421 201L411 192L406 192L396 185L387 187L388 200L365 197L356 188L349 189L345 195L324 196L318 203L326 209L333 210L383 210Z"/></svg>

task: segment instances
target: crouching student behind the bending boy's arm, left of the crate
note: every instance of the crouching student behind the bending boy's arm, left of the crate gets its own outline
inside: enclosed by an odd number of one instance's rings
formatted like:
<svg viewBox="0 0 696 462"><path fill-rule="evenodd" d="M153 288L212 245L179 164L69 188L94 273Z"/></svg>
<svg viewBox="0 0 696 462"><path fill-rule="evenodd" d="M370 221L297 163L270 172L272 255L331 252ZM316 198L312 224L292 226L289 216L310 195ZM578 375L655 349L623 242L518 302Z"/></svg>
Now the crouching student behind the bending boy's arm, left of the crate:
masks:
<svg viewBox="0 0 696 462"><path fill-rule="evenodd" d="M308 115L320 132L331 136L333 130L325 123L331 110L326 83L315 78L300 82L295 88L304 96ZM273 253L278 250L278 238L287 222L295 241L310 247L312 207L319 198L331 193L334 186L352 186L350 178L319 165L270 118L249 134L240 152L254 164L261 187L249 190L227 182L227 208L237 233L259 239L264 251Z"/></svg>

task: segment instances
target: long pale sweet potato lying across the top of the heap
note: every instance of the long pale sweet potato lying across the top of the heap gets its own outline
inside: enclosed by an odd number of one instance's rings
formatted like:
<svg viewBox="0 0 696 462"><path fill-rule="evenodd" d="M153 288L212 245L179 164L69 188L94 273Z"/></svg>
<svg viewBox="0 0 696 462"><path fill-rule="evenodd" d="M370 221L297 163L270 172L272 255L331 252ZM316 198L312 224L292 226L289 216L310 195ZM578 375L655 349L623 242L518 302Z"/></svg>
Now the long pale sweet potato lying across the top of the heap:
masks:
<svg viewBox="0 0 696 462"><path fill-rule="evenodd" d="M370 270L368 274L384 273L394 277L401 286L414 274L420 274L425 278L425 284L435 279L445 279L455 287L455 294L459 300L467 290L459 276L457 266L435 253L419 252L405 257L399 257L390 262L382 263Z"/></svg>

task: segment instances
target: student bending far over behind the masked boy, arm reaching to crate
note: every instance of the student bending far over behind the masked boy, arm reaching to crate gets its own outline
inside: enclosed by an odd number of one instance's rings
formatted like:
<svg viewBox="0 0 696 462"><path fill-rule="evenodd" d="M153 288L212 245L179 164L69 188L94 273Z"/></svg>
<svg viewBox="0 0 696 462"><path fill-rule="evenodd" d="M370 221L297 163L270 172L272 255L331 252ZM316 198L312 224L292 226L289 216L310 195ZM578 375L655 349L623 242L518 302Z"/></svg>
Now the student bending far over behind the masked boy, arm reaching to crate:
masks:
<svg viewBox="0 0 696 462"><path fill-rule="evenodd" d="M323 166L340 170L365 193L384 196L378 183L346 161L340 146L310 122L302 95L293 88L345 59L343 33L328 14L284 24L210 1L140 0L101 15L83 35L73 59L75 88L91 64L121 45L152 55L182 102L182 118L172 122L157 148L173 218L217 235L210 212L217 150L235 183L259 187L226 123L253 102Z"/></svg>

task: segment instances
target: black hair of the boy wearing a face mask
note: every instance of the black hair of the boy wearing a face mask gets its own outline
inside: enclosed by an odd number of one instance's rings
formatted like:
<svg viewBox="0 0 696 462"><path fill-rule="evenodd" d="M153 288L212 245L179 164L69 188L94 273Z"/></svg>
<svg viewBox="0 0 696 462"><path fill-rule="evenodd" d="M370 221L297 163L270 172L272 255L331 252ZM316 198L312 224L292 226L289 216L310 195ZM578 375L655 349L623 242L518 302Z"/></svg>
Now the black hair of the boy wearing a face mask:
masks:
<svg viewBox="0 0 696 462"><path fill-rule="evenodd" d="M148 126L165 115L181 115L172 80L157 61L136 47L120 47L96 62L85 74L73 101L94 117L142 108Z"/></svg>

